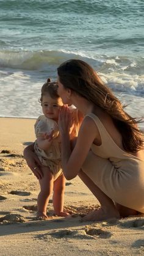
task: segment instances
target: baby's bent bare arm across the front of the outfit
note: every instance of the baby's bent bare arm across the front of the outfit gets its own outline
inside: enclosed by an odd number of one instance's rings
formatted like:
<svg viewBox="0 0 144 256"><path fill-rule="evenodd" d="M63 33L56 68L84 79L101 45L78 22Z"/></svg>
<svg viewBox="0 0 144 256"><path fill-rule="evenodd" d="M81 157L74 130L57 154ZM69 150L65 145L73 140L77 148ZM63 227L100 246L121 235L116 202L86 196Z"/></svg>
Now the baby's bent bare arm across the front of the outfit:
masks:
<svg viewBox="0 0 144 256"><path fill-rule="evenodd" d="M53 131L49 135L45 134L43 136L38 136L37 137L38 147L41 148L42 150L48 150L52 143L52 135L53 135Z"/></svg>

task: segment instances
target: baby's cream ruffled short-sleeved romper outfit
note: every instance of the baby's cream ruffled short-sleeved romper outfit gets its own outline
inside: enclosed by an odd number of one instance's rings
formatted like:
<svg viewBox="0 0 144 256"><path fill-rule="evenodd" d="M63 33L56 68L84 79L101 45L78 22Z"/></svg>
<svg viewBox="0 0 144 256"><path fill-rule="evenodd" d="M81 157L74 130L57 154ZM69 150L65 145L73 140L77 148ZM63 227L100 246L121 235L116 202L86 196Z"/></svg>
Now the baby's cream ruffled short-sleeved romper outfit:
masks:
<svg viewBox="0 0 144 256"><path fill-rule="evenodd" d="M76 137L79 130L79 118L78 110L76 108L70 107L70 112L74 120L73 137ZM48 166L54 175L54 180L56 180L62 174L62 163L61 163L61 145L60 145L60 135L59 126L57 122L45 117L45 115L40 115L35 122L35 136L43 136L45 133L50 134L54 131L54 137L52 144L47 151L42 150L38 147L37 140L34 144L34 150L40 159L40 163L43 166Z"/></svg>

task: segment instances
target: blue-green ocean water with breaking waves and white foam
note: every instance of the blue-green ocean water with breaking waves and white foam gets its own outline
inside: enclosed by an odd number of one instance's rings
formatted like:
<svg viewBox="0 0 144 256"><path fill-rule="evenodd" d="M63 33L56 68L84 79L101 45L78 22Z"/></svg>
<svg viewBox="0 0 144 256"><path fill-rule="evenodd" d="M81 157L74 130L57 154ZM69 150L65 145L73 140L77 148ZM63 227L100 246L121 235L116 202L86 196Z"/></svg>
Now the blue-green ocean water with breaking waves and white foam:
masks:
<svg viewBox="0 0 144 256"><path fill-rule="evenodd" d="M143 11L143 0L0 0L0 116L40 115L41 86L74 58L143 117Z"/></svg>

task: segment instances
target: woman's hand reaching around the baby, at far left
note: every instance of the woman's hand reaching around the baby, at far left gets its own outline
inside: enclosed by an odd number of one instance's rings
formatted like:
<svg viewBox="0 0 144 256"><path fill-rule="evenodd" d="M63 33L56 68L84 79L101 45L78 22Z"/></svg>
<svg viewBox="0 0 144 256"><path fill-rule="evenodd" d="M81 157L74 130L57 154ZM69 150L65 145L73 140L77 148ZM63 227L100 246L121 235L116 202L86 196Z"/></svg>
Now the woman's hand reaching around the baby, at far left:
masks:
<svg viewBox="0 0 144 256"><path fill-rule="evenodd" d="M40 169L40 160L34 152L34 144L24 148L24 158L26 159L27 166L32 170L35 177L37 177L38 180L41 180L43 172Z"/></svg>

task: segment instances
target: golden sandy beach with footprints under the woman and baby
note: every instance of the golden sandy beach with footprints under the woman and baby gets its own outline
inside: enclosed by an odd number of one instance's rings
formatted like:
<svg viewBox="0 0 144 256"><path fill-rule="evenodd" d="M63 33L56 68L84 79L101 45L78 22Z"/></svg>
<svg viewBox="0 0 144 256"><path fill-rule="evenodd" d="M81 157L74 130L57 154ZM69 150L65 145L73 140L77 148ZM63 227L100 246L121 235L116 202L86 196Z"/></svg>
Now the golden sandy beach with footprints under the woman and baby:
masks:
<svg viewBox="0 0 144 256"><path fill-rule="evenodd" d="M71 216L35 219L38 180L23 158L35 140L35 119L0 118L0 255L137 255L144 254L144 218L82 222L99 203L79 177L67 181L65 209Z"/></svg>

